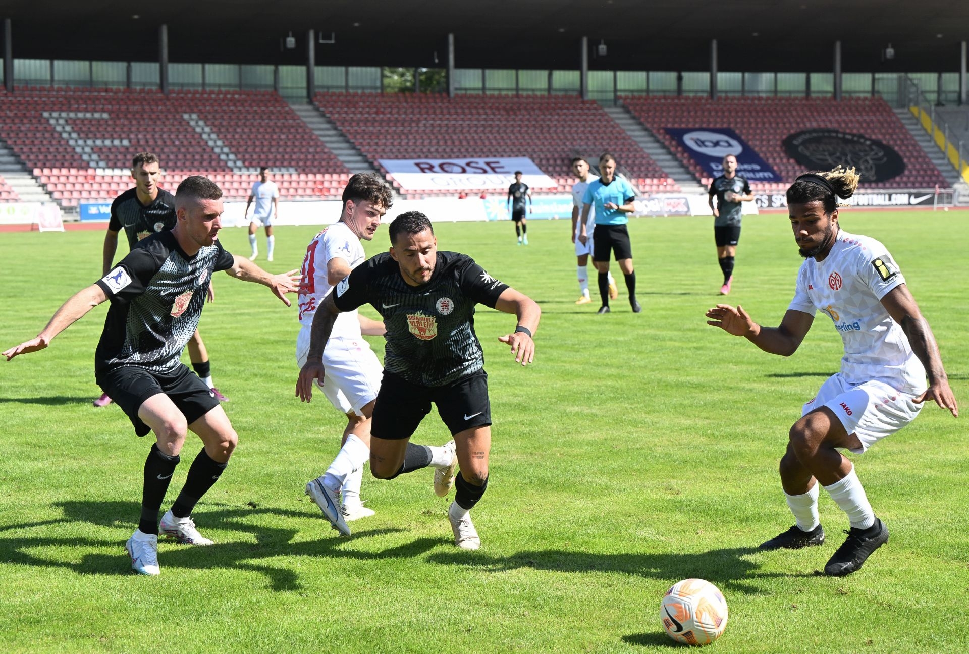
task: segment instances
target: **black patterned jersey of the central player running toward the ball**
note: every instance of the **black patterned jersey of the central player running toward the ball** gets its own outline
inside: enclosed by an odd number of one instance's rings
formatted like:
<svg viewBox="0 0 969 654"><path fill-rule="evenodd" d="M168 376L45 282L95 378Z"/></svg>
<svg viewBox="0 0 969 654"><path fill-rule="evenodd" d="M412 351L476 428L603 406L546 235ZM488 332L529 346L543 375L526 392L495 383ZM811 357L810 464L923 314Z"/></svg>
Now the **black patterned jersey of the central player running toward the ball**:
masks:
<svg viewBox="0 0 969 654"><path fill-rule="evenodd" d="M387 326L384 369L412 384L440 387L484 367L475 305L493 309L507 288L457 252L438 252L430 280L410 286L384 252L337 284L333 301L341 311L371 304Z"/></svg>

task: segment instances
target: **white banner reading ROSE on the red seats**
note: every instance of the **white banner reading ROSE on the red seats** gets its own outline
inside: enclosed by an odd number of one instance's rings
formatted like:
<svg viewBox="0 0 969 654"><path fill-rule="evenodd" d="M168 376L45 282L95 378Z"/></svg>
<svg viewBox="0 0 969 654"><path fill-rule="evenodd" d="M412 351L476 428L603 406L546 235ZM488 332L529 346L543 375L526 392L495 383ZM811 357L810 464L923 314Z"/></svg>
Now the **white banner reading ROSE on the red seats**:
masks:
<svg viewBox="0 0 969 654"><path fill-rule="evenodd" d="M380 159L378 163L405 191L507 191L509 184L515 181L515 171L521 171L521 181L533 189L557 186L528 157Z"/></svg>

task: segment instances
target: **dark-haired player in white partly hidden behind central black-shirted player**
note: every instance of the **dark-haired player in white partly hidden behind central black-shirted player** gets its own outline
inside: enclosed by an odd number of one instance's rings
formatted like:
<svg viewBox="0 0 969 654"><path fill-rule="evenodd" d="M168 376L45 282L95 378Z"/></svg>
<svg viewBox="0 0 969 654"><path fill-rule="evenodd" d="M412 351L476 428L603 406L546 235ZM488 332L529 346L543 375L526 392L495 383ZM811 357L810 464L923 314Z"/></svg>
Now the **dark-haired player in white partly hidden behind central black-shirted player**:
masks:
<svg viewBox="0 0 969 654"><path fill-rule="evenodd" d="M316 234L303 259L303 286L299 290L299 335L297 365L306 363L310 329L317 307L366 259L360 238L371 240L380 219L391 207L391 188L376 175L359 173L343 190L340 220ZM384 368L362 334L382 336L381 322L360 316L357 311L341 313L323 352L323 393L347 417L340 452L326 473L306 484L306 494L320 507L330 523L344 536L350 535L348 521L373 515L359 499L363 464L370 458L370 419ZM453 446L430 448L438 458L454 463ZM453 475L453 472L452 472ZM445 491L446 492L446 491Z"/></svg>

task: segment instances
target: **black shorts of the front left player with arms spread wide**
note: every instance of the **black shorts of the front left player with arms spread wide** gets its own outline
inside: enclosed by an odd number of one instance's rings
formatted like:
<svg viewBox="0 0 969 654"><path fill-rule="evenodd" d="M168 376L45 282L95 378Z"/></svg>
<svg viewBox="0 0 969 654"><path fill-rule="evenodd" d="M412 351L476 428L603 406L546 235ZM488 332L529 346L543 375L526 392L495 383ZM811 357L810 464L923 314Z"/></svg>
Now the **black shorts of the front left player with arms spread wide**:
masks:
<svg viewBox="0 0 969 654"><path fill-rule="evenodd" d="M184 363L164 374L132 365L114 368L98 374L97 382L128 416L139 436L151 431L151 427L138 417L138 410L152 395L160 392L168 395L189 424L219 406L215 394Z"/></svg>

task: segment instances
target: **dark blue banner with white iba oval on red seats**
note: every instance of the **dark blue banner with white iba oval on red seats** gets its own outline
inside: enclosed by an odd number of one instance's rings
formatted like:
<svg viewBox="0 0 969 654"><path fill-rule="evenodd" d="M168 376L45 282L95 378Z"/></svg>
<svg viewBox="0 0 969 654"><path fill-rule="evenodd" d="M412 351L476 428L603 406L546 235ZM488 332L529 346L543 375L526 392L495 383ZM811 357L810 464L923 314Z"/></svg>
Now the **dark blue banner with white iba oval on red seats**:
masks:
<svg viewBox="0 0 969 654"><path fill-rule="evenodd" d="M736 171L750 181L784 181L734 130L726 127L664 127L711 177L723 174L723 158L736 157Z"/></svg>

